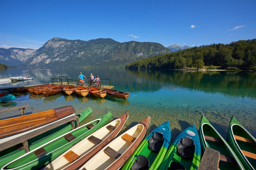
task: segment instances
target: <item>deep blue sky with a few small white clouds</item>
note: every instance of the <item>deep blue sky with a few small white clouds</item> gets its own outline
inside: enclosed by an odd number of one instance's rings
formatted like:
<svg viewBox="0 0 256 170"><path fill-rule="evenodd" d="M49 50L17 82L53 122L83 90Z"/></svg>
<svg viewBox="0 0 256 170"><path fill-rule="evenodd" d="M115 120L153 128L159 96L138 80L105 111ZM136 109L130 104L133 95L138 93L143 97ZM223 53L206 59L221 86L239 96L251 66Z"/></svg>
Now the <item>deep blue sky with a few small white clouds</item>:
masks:
<svg viewBox="0 0 256 170"><path fill-rule="evenodd" d="M7 1L0 47L40 48L53 37L199 46L256 38L256 1Z"/></svg>

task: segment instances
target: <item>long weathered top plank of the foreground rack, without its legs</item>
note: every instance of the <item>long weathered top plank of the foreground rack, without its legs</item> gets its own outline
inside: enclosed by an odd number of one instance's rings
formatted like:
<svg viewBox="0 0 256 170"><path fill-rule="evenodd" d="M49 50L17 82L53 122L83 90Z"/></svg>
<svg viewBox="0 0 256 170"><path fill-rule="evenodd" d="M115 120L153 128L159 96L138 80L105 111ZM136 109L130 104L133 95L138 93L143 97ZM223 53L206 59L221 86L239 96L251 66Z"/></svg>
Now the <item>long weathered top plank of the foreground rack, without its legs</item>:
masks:
<svg viewBox="0 0 256 170"><path fill-rule="evenodd" d="M65 119L63 119L63 120L60 120L60 121L58 121L58 122L54 122L54 123L52 123L52 124L50 124L50 125L47 125L47 126L45 126L44 128L37 129L37 130L34 130L34 131L31 132L31 133L22 135L22 136L16 138L16 140L10 140L10 141L3 142L3 143L1 144L0 151L3 151L3 150L5 150L5 149L8 149L8 148L10 148L10 147L12 147L12 146L15 146L15 145L17 145L17 144L19 144L19 143L22 143L22 142L24 142L24 141L26 141L26 140L28 140L28 139L31 139L31 138L33 138L33 137L35 137L35 136L38 136L38 135L40 135L40 134L42 134L42 133L45 133L45 132L47 132L47 131L49 131L49 130L51 130L51 129L54 129L54 128L56 128L56 127L62 125L62 124L68 123L68 122L70 122L71 120L77 119L77 117L78 117L78 116L70 116L70 117L67 117L67 118L65 118Z"/></svg>

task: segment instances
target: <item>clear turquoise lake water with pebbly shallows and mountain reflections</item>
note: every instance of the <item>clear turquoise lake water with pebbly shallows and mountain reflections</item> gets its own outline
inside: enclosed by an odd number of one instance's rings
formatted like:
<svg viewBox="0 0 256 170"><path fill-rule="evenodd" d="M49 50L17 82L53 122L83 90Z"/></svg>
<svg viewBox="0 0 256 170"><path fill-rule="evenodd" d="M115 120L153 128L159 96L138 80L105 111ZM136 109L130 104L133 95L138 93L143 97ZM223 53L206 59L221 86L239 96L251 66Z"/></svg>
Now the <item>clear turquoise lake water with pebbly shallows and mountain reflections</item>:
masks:
<svg viewBox="0 0 256 170"><path fill-rule="evenodd" d="M137 69L33 69L0 70L0 78L29 75L34 80L1 84L0 88L50 83L51 78L68 76L77 79L80 72L111 79L116 90L129 91L127 100L106 96L103 99L60 93L44 97L30 93L15 93L16 99L0 103L0 109L29 105L26 114L71 105L77 113L91 108L92 114L82 124L110 111L113 118L125 111L129 119L120 134L146 116L151 123L146 135L165 121L170 122L171 142L191 124L199 128L201 114L226 139L231 116L256 137L256 72L249 71L183 71ZM33 108L33 109L31 109ZM20 111L0 114L0 119L20 115Z"/></svg>

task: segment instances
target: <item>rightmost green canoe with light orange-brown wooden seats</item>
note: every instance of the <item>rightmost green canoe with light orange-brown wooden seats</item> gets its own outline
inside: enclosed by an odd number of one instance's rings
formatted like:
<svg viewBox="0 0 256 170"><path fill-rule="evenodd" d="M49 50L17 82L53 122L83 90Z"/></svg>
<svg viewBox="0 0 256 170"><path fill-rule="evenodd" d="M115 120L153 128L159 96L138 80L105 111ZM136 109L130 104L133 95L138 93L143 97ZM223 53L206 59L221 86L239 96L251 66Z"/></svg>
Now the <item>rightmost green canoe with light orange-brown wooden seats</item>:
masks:
<svg viewBox="0 0 256 170"><path fill-rule="evenodd" d="M228 128L228 142L248 170L256 169L256 139L232 117Z"/></svg>

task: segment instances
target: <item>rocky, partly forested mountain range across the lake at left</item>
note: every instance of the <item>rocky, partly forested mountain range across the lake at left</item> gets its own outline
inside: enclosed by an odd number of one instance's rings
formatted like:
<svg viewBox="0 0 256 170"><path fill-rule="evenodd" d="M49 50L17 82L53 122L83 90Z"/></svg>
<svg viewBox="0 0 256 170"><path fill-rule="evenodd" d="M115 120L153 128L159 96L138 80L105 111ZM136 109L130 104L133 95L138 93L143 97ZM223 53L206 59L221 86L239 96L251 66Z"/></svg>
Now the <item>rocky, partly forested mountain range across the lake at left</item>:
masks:
<svg viewBox="0 0 256 170"><path fill-rule="evenodd" d="M37 50L0 48L0 63L20 67L124 67L127 63L167 53L172 51L159 43L56 37Z"/></svg>

